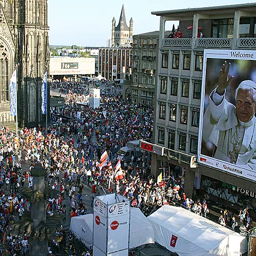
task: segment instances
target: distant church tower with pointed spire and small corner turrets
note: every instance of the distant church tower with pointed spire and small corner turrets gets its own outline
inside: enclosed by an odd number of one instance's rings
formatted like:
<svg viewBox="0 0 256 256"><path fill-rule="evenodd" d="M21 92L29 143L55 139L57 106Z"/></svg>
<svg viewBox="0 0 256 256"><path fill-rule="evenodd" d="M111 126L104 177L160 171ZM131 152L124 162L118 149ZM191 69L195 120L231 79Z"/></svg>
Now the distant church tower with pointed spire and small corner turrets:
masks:
<svg viewBox="0 0 256 256"><path fill-rule="evenodd" d="M123 47L127 43L127 39L133 37L133 18L130 19L130 27L126 24L124 6L122 6L119 23L116 27L115 17L112 19L112 47Z"/></svg>

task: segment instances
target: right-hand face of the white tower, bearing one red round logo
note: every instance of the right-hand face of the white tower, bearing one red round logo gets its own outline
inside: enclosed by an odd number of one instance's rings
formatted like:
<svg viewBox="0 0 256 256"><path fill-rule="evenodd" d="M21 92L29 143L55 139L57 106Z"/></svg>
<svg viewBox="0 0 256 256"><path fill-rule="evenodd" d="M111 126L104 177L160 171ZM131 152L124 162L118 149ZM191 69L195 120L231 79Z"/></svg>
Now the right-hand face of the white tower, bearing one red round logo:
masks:
<svg viewBox="0 0 256 256"><path fill-rule="evenodd" d="M110 216L108 230L109 253L129 248L129 214Z"/></svg>

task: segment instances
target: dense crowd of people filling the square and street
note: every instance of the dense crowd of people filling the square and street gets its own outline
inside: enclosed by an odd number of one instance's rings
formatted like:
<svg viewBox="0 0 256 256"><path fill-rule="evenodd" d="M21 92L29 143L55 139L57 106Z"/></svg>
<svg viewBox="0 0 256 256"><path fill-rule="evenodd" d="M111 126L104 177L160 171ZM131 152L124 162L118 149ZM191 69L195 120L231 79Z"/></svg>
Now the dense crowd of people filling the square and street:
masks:
<svg viewBox="0 0 256 256"><path fill-rule="evenodd" d="M46 169L48 185L56 190L57 196L48 199L48 216L63 215L66 220L68 214L71 218L87 214L82 198L84 186L92 187L92 194L95 194L99 185L105 184L111 192L126 196L132 207L139 207L146 214L163 204L175 203L206 217L208 197L195 202L186 197L184 169L171 166L170 179L157 182L151 175L150 155L145 152L137 159L122 162L123 178L115 179L117 151L128 141L152 138L153 109L123 100L119 93L108 90L108 81L104 86L107 90L99 108L91 109L89 105L77 104L86 98L88 84L53 81L52 89L65 93L66 104L52 109L52 123L47 130L39 125L20 130L16 135L8 127L2 127L0 229L2 242L10 248L23 254L28 250L27 233L12 236L9 227L21 219L25 211L30 211L30 202L20 194L20 187L33 186L30 170L37 162ZM67 121L68 118L71 120ZM101 166L104 152L108 154L108 164ZM22 169L22 160L29 163L28 169ZM243 220L248 216L242 215ZM63 241L66 241L65 232L59 230L49 251L58 251L65 246Z"/></svg>

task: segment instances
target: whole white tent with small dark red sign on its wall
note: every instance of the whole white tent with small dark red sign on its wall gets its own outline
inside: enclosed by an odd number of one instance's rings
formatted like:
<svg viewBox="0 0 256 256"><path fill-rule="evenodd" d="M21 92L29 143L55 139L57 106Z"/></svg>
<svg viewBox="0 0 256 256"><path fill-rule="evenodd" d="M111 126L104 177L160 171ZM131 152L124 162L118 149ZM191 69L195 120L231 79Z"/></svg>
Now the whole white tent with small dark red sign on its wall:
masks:
<svg viewBox="0 0 256 256"><path fill-rule="evenodd" d="M180 256L234 256L247 251L246 239L239 233L184 208L164 205L147 219L154 226L156 242Z"/></svg>

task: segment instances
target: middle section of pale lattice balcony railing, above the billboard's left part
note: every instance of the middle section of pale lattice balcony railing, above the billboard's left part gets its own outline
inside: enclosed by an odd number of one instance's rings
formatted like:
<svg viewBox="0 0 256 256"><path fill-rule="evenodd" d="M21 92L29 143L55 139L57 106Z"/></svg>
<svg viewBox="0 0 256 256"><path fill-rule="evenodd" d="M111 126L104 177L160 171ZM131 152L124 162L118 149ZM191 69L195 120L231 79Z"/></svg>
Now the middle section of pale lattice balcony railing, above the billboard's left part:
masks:
<svg viewBox="0 0 256 256"><path fill-rule="evenodd" d="M231 48L233 38L197 38L198 48Z"/></svg>

